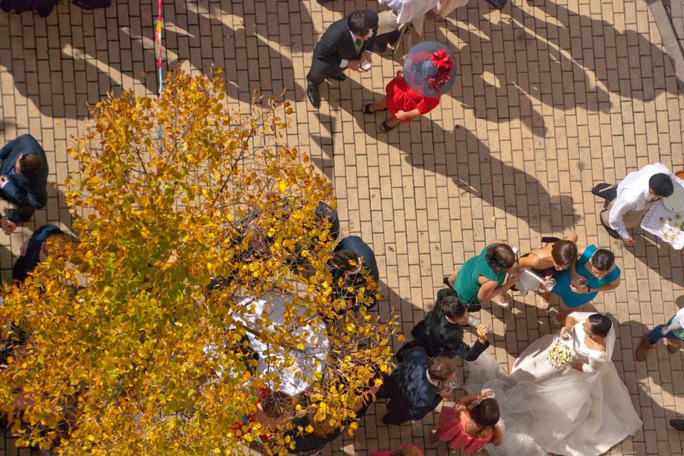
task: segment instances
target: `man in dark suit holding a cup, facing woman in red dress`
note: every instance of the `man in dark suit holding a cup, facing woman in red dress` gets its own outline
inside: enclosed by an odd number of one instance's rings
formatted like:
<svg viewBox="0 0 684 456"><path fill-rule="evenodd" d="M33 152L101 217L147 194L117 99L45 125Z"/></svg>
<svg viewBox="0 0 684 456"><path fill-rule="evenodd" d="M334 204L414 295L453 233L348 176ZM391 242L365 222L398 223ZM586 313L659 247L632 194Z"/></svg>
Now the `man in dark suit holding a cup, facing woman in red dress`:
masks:
<svg viewBox="0 0 684 456"><path fill-rule="evenodd" d="M360 73L366 73L371 68L371 53L375 46L376 33L378 14L370 9L354 11L346 18L333 22L326 33L323 33L321 41L318 41L314 48L311 70L306 75L306 96L314 108L321 107L318 86L326 78L344 81L347 78L342 73L345 68Z"/></svg>

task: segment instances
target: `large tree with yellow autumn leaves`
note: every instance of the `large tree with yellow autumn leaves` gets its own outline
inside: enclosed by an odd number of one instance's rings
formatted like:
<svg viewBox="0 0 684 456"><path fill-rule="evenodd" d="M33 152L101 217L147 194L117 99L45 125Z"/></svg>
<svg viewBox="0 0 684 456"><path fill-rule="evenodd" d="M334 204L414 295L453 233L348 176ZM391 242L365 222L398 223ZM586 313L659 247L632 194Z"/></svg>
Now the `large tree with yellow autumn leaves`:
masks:
<svg viewBox="0 0 684 456"><path fill-rule="evenodd" d="M70 150L78 240L53 242L0 306L0 408L24 445L243 454L265 432L242 418L261 388L294 388L299 414L338 425L390 370L397 322L345 311L377 285L333 284L316 209L335 201L286 144L288 103L225 101L219 74L179 72L158 100L93 110ZM276 432L263 450L289 445Z"/></svg>

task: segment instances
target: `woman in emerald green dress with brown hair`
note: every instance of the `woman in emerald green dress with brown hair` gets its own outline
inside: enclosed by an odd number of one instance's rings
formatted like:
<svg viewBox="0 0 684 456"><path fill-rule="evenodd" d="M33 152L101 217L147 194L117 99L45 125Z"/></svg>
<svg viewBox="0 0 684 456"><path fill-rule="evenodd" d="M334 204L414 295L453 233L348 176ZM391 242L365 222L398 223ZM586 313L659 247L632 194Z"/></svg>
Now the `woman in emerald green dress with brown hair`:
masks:
<svg viewBox="0 0 684 456"><path fill-rule="evenodd" d="M445 285L456 291L458 298L468 304L494 299L502 307L508 307L507 291L518 281L518 274L506 274L516 264L513 249L501 239L494 239L482 249L477 257L472 257L445 277ZM504 283L505 281L505 283ZM478 309L479 310L479 309Z"/></svg>

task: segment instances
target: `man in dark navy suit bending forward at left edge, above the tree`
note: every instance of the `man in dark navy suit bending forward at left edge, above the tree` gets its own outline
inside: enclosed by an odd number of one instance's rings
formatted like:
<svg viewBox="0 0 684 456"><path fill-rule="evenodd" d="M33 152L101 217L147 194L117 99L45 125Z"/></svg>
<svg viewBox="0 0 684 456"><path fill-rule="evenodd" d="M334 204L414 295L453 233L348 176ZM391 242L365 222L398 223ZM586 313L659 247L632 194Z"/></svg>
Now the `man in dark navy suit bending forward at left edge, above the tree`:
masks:
<svg viewBox="0 0 684 456"><path fill-rule="evenodd" d="M0 149L0 198L14 204L14 211L0 219L5 234L16 224L28 222L35 209L48 200L48 162L43 147L31 135L21 135Z"/></svg>

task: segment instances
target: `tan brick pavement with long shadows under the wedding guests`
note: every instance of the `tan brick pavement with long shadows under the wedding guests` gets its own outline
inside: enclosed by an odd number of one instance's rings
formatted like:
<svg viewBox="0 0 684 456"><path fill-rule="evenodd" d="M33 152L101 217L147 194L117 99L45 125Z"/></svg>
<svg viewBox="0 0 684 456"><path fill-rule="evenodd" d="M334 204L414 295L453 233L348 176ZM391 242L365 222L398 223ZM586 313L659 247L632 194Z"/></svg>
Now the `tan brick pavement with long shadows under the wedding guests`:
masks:
<svg viewBox="0 0 684 456"><path fill-rule="evenodd" d="M0 142L36 136L51 181L76 170L66 147L83 128L87 103L122 87L155 93L156 6L113 3L83 11L65 1L48 19L0 14ZM598 226L589 190L648 162L681 169L684 97L645 1L512 3L499 13L471 0L447 21L427 21L426 38L459 50L459 76L430 118L389 134L376 133L381 115L359 110L380 97L398 69L390 53L374 57L370 75L323 88L319 112L304 93L318 36L345 13L375 8L373 1L167 0L165 56L171 67L225 68L236 105L255 88L288 90L286 98L296 101L289 139L310 150L331 179L343 232L373 245L406 333L432 306L442 275L487 239L508 239L526 252L542 235L574 231L582 244L610 246L623 284L594 304L620 322L613 358L644 422L610 454L682 455L682 435L666 424L684 415L681 355L659 345L647 363L633 360L643 331L684 305L682 254L653 237L638 236L636 249L623 249ZM58 190L36 213L36 226L46 221L69 225ZM33 227L4 241L3 279ZM494 328L490 351L507 366L549 332L546 314L516 301L512 311L482 311ZM356 436L338 439L326 455L365 455L400 442L446 454L423 440L432 417L388 428L380 423L383 412L383 405L371 408ZM16 454L10 438L0 440L1 454Z"/></svg>

